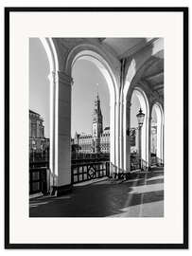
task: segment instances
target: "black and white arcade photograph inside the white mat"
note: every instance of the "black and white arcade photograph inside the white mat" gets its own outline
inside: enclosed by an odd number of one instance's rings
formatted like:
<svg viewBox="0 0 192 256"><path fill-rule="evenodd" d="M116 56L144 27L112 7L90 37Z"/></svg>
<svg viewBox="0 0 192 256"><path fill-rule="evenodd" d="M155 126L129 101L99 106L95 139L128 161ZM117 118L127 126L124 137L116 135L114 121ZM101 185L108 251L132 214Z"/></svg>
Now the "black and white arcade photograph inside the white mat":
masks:
<svg viewBox="0 0 192 256"><path fill-rule="evenodd" d="M164 62L164 38L29 39L30 217L164 217Z"/></svg>

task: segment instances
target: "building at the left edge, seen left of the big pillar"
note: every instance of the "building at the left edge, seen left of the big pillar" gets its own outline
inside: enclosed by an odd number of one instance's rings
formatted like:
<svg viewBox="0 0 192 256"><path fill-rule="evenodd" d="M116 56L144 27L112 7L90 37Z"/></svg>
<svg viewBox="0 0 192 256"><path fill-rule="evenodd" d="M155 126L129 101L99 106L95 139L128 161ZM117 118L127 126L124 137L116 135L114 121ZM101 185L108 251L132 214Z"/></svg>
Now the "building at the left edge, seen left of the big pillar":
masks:
<svg viewBox="0 0 192 256"><path fill-rule="evenodd" d="M49 148L49 138L44 137L44 119L29 110L29 153L42 153Z"/></svg>

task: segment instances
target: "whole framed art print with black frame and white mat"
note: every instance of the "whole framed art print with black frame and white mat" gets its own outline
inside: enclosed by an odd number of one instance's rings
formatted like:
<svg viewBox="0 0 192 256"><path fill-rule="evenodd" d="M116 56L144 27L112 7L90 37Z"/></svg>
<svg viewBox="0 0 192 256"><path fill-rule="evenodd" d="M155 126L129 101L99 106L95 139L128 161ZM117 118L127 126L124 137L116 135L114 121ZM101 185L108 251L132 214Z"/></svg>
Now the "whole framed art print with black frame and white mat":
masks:
<svg viewBox="0 0 192 256"><path fill-rule="evenodd" d="M5 247L188 247L188 9L5 9Z"/></svg>

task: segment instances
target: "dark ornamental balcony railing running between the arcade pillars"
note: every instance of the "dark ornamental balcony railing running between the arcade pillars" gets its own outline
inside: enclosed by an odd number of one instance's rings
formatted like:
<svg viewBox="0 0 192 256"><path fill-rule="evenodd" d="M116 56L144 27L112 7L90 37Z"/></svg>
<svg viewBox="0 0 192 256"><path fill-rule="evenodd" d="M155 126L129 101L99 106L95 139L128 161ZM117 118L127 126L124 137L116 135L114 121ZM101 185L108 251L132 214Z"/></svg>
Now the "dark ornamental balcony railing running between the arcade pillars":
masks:
<svg viewBox="0 0 192 256"><path fill-rule="evenodd" d="M163 160L151 157L151 165L164 166ZM148 171L148 162L138 155L131 155L131 171ZM29 155L29 193L47 192L49 155L31 153ZM71 180L76 184L101 177L118 174L117 167L110 163L109 154L73 154L71 160ZM121 173L121 172L120 172ZM124 171L122 171L122 174Z"/></svg>

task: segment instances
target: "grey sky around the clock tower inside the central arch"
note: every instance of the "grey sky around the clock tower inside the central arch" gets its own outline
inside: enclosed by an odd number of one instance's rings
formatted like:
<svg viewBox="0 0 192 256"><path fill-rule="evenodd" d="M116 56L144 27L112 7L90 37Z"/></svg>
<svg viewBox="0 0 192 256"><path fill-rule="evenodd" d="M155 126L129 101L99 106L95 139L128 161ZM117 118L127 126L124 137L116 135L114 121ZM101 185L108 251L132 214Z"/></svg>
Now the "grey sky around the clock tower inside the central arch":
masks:
<svg viewBox="0 0 192 256"><path fill-rule="evenodd" d="M105 78L92 62L79 60L72 70L72 137L75 132L91 133L96 95L100 98L103 128L110 126L110 95ZM98 85L96 85L96 83Z"/></svg>

